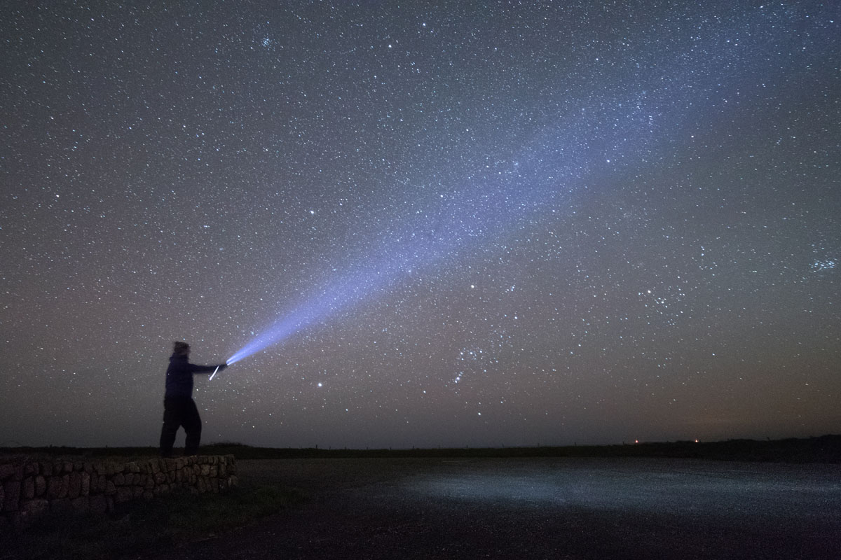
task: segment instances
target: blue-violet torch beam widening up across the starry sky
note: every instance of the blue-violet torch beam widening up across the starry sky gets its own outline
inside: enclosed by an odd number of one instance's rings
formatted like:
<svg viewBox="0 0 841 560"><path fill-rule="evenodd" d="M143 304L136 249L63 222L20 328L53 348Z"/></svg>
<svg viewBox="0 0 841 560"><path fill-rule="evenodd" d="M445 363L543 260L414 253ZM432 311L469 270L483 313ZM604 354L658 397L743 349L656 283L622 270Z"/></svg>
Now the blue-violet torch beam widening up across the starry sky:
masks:
<svg viewBox="0 0 841 560"><path fill-rule="evenodd" d="M779 50L779 29L785 29L780 24L785 22L776 20L786 17L796 18L759 10L707 29L709 50L695 44L670 63L643 68L628 61L627 69L614 76L615 83L600 91L576 93L559 85L550 104L558 114L531 140L495 158L483 156L481 146L467 147L467 155L478 161L461 185L399 193L408 202L388 208L389 222L378 231L379 241L369 243L357 264L340 270L335 280L259 332L227 363L283 343L435 264L574 213L571 209L584 196L616 174L661 163L675 146L690 141L684 126L701 116L709 120L726 115L722 107L733 107L726 106L727 97L743 89L743 76L753 76L755 83L759 72L773 83L775 72L784 71L767 53ZM738 52L717 47L741 29L761 33L743 37ZM711 56L711 51L721 55ZM662 60L662 53L648 55ZM744 95L740 101L749 102Z"/></svg>

